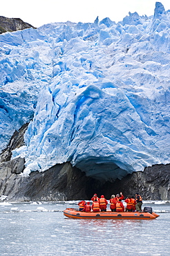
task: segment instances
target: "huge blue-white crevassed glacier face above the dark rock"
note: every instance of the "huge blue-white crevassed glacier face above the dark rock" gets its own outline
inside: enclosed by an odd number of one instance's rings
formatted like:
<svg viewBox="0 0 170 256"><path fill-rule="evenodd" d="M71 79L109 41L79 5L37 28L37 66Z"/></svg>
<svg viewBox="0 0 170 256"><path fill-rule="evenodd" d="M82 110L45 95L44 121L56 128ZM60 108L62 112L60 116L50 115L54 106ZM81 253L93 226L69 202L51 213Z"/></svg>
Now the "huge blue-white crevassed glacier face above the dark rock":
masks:
<svg viewBox="0 0 170 256"><path fill-rule="evenodd" d="M12 152L25 174L70 161L107 181L169 163L169 31L157 2L153 17L0 35L0 149L31 120Z"/></svg>

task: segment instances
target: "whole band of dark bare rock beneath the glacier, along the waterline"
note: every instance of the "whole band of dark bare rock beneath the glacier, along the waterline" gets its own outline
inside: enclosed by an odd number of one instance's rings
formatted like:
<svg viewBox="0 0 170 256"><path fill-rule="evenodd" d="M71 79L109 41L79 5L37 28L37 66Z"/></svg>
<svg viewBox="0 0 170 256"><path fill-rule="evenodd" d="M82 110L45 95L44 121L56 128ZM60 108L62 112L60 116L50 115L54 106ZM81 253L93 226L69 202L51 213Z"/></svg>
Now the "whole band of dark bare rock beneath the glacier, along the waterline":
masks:
<svg viewBox="0 0 170 256"><path fill-rule="evenodd" d="M114 183L86 177L70 163L55 165L46 172L21 176L24 159L11 160L12 149L24 144L23 134L28 124L15 131L10 143L0 155L0 196L9 201L65 201L91 199L94 193L111 194L122 191L124 196L139 192L144 200L170 200L170 165L154 165L144 172L134 172Z"/></svg>

